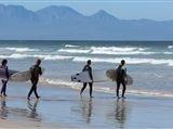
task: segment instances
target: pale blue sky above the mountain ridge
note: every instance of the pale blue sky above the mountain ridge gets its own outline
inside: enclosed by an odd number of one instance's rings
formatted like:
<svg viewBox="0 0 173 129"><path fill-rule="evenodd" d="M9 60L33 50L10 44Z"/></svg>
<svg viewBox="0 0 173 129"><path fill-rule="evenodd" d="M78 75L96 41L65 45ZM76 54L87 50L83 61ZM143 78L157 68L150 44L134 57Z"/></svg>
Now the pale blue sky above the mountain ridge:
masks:
<svg viewBox="0 0 173 129"><path fill-rule="evenodd" d="M0 0L0 3L24 5L32 11L49 5L68 5L83 15L105 10L122 20L173 20L173 0Z"/></svg>

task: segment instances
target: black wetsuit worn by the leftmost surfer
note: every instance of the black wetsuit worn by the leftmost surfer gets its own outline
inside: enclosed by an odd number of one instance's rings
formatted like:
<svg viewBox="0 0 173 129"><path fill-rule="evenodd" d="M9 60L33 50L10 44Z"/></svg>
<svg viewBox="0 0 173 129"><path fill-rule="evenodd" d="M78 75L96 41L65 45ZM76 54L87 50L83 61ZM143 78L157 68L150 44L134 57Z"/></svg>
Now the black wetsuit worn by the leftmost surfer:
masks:
<svg viewBox="0 0 173 129"><path fill-rule="evenodd" d="M0 66L0 67L5 69L6 79L2 79L2 89L1 89L1 94L5 96L6 95L6 83L9 81L10 74L9 74L8 66Z"/></svg>

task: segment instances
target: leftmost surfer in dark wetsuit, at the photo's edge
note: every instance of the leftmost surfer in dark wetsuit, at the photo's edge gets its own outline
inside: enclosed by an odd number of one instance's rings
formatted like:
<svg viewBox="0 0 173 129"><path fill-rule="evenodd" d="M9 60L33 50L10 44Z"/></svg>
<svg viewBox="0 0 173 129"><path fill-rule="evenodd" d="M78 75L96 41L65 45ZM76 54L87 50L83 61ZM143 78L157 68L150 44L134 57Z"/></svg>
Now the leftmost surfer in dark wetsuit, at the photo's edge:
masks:
<svg viewBox="0 0 173 129"><path fill-rule="evenodd" d="M6 79L2 79L1 96L2 95L6 96L6 85L8 85L9 77L10 77L9 68L8 68L6 64L8 64L8 60L2 60L0 68L4 68Z"/></svg>

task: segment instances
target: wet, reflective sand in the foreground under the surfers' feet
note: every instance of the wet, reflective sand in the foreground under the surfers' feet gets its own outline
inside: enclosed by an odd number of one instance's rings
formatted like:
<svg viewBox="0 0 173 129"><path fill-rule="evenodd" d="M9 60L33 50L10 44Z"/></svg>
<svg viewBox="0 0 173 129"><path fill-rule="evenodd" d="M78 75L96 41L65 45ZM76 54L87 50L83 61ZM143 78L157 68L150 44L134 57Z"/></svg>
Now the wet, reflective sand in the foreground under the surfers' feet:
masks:
<svg viewBox="0 0 173 129"><path fill-rule="evenodd" d="M0 128L173 128L173 99L79 91L41 86L41 99L26 100L28 83L10 83L8 98L0 100Z"/></svg>

